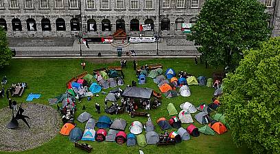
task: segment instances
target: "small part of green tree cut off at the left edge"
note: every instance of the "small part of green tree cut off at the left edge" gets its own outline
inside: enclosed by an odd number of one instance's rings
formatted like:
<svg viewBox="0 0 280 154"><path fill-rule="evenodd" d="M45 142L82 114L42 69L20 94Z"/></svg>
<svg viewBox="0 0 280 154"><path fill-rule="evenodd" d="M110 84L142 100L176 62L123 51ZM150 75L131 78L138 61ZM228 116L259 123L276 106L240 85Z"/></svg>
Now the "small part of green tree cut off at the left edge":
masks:
<svg viewBox="0 0 280 154"><path fill-rule="evenodd" d="M6 32L0 26L0 68L9 64L12 59L12 51L8 47Z"/></svg>

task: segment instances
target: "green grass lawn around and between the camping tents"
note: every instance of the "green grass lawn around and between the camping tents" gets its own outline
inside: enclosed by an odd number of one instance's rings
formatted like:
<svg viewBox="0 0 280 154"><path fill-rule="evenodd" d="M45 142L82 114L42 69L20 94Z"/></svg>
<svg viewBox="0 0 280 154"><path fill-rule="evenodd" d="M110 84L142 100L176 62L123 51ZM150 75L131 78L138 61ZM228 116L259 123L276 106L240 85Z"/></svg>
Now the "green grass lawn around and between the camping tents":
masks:
<svg viewBox="0 0 280 154"><path fill-rule="evenodd" d="M71 79L71 77L82 73L82 67L80 63L83 60L12 60L10 66L5 67L0 72L0 77L6 75L8 77L8 86L13 82L27 82L28 88L23 93L22 97L16 98L18 102L25 102L27 94L29 93L40 93L41 97L38 100L32 101L32 103L43 103L48 104L47 99L54 98L59 94L65 92L65 83ZM92 73L94 68L100 68L104 66L119 65L119 62L114 62L112 64L97 64L93 62L86 62L86 70ZM213 71L212 68L205 69L203 65L194 65L193 59L154 59L147 61L140 61L139 66L143 64L154 64L161 62L163 64L163 70L166 68L174 68L176 72L178 70L185 70L187 73L191 73L198 77L199 75L205 75L211 77ZM131 84L132 80L137 81L135 71L132 69L132 62L128 62L127 68L124 68L125 84ZM5 86L6 88L7 86ZM147 84L141 87L153 88L159 92L159 88L152 81L152 79L147 79ZM123 86L124 88L124 86ZM109 88L110 90L112 88ZM154 124L156 125L156 119L160 117L170 118L166 107L168 103L174 103L178 112L180 112L179 105L186 101L198 105L199 103L210 103L211 97L213 95L213 88L207 88L205 86L190 86L191 97L176 97L173 99L163 99L163 104L156 110L150 110L150 115ZM108 92L108 90L104 90ZM101 115L107 115L110 118L124 118L126 119L128 125L126 126L126 133L129 132L128 127L130 123L134 120L139 120L142 123L147 121L147 118L130 118L127 113L119 115L108 115L104 113L104 98L106 95L100 94L100 97L94 97L91 101L87 101L85 98L82 103L77 105L78 110L75 112L75 118L79 114L84 112L82 106L86 106L86 112L91 113L91 115L97 120ZM100 103L102 106L102 114L95 113L94 105L95 103ZM0 99L0 107L8 106L7 99ZM56 107L56 106L54 106ZM194 117L194 115L193 115ZM195 119L194 119L195 120ZM78 127L84 129L85 123L78 123ZM196 127L201 127L197 122L194 123ZM186 128L188 125L184 124L183 127ZM173 129L176 130L176 129ZM162 131L156 125L156 132L161 133ZM170 132L170 130L169 130ZM0 143L1 144L1 143ZM119 145L113 142L89 142L93 146L92 153L139 153L139 146L128 147L126 144ZM222 135L215 136L205 136L201 134L198 138L192 138L188 141L183 141L175 146L156 146L148 145L143 148L145 154L150 153L251 153L247 148L237 148L235 144L231 141L231 132L224 133ZM7 152L0 152L7 153ZM86 153L85 151L80 151L73 146L72 142L69 142L67 136L61 136L59 133L50 142L37 147L36 149L16 152L16 153Z"/></svg>

